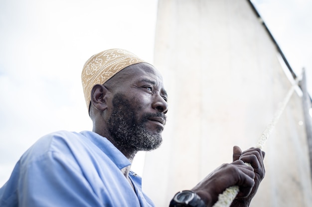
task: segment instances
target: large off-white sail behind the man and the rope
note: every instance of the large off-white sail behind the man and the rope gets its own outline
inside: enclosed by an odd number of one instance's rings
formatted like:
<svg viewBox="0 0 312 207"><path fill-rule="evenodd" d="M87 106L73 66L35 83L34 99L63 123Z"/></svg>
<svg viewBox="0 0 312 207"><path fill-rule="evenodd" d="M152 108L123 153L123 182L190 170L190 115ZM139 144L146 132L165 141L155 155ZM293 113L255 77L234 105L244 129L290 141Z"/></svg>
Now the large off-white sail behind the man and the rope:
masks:
<svg viewBox="0 0 312 207"><path fill-rule="evenodd" d="M166 207L254 146L291 83L246 0L159 0L155 66L169 111L163 145L147 153L144 191ZM301 98L294 93L264 147L266 177L251 207L309 207L309 153Z"/></svg>

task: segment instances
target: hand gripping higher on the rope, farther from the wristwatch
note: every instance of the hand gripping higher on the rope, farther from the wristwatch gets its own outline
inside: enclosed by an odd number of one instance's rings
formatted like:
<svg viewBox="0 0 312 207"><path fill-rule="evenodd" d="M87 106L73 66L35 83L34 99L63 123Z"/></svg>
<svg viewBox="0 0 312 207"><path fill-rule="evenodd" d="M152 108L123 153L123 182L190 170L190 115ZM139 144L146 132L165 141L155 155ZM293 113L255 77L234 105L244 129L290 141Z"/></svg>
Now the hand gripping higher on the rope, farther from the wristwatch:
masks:
<svg viewBox="0 0 312 207"><path fill-rule="evenodd" d="M259 148L250 148L242 152L238 146L233 147L233 162L236 160L242 160L245 163L251 164L254 168L255 173L255 185L251 190L251 193L246 198L240 198L239 196L233 201L231 207L248 207L252 198L255 196L260 182L263 180L265 175L265 168L263 164L263 159L265 152L261 151Z"/></svg>

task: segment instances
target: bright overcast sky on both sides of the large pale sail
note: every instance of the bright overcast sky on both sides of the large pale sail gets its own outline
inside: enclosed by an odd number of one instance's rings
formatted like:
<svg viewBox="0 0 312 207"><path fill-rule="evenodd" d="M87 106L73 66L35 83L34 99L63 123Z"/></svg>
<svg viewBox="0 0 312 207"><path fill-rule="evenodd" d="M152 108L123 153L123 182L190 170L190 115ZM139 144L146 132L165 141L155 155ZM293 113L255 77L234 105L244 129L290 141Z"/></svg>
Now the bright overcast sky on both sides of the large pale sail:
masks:
<svg viewBox="0 0 312 207"><path fill-rule="evenodd" d="M311 1L254 2L312 87ZM91 55L124 48L153 63L156 8L157 0L0 0L0 186L38 138L92 130L80 81Z"/></svg>

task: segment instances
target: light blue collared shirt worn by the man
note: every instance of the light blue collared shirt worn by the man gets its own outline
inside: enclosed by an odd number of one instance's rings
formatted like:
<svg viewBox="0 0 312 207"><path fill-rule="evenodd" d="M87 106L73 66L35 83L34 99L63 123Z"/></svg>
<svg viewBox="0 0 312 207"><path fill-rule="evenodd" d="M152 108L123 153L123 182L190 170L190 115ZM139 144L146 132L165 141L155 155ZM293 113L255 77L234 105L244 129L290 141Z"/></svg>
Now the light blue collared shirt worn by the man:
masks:
<svg viewBox="0 0 312 207"><path fill-rule="evenodd" d="M130 161L107 139L84 131L40 138L0 188L0 207L154 207L130 172Z"/></svg>

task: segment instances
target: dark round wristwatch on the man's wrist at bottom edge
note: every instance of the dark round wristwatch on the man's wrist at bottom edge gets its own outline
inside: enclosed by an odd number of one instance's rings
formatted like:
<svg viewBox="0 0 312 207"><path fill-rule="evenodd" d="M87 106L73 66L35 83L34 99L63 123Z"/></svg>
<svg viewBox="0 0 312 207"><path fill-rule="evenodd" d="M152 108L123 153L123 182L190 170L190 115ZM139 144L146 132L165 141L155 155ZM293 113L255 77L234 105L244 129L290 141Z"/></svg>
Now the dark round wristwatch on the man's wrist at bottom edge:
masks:
<svg viewBox="0 0 312 207"><path fill-rule="evenodd" d="M175 194L169 207L206 207L206 204L195 192L180 191Z"/></svg>

